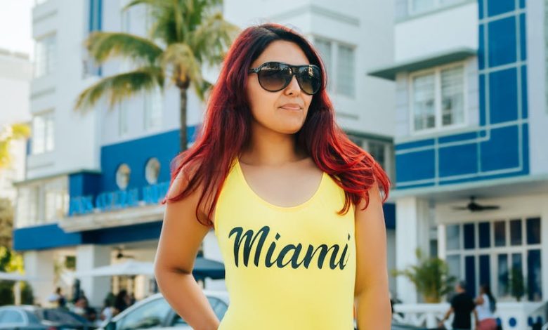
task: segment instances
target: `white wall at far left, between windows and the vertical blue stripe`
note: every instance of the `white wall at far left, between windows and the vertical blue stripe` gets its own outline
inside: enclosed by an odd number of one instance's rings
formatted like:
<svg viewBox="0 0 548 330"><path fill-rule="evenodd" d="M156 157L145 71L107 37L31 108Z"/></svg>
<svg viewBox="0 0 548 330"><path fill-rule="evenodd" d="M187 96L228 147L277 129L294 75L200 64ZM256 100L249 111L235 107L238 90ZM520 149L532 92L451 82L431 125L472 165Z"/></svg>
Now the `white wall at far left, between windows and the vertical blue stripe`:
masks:
<svg viewBox="0 0 548 330"><path fill-rule="evenodd" d="M56 33L57 57L53 74L32 81L31 112L54 110L55 149L31 155L27 178L53 173L98 169L96 112L75 112L78 93L93 82L82 80L85 1L50 0L33 10L33 37Z"/></svg>

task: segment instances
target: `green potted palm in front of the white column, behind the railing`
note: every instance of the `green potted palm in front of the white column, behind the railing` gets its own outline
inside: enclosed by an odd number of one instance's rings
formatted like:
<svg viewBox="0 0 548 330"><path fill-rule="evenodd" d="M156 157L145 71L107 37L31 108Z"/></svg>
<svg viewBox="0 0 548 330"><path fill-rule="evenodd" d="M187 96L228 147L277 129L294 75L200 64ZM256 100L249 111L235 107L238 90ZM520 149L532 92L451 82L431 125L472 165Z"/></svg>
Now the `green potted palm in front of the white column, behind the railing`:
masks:
<svg viewBox="0 0 548 330"><path fill-rule="evenodd" d="M426 258L420 249L415 250L415 255L417 265L410 265L405 270L393 270L392 275L407 277L426 303L440 303L441 298L453 289L456 277L450 275L444 260Z"/></svg>

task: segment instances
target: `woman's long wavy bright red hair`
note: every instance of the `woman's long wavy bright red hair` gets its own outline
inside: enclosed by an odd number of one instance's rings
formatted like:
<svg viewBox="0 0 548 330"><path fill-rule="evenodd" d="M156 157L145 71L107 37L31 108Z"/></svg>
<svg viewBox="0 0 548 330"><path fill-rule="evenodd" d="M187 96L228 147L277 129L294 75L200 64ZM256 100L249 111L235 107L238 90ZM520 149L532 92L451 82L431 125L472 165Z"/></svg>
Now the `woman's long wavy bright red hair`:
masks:
<svg viewBox="0 0 548 330"><path fill-rule="evenodd" d="M162 204L183 199L200 187L199 206L207 206L207 218L211 219L233 159L240 155L249 141L252 114L244 93L249 67L268 44L276 40L294 42L311 64L321 68L322 88L313 95L304 125L296 133L296 143L305 148L319 169L332 176L344 189L346 199L339 213L348 212L351 203L358 205L361 199L365 199L367 207L368 190L375 182L384 192L383 202L386 202L390 187L388 176L369 153L348 139L334 120L334 108L325 91L327 77L320 56L294 30L269 23L244 29L230 46L211 91L200 135L190 149L171 161L170 187L181 171L184 171L188 185L175 196L166 197ZM211 220L202 224L213 225Z"/></svg>

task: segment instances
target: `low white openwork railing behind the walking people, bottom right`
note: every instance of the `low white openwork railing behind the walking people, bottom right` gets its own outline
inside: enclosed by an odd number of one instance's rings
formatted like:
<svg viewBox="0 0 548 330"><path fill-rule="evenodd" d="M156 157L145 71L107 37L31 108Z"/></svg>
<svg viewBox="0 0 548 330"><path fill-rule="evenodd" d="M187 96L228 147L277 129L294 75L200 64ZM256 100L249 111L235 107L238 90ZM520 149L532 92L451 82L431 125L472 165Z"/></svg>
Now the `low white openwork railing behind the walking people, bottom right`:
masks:
<svg viewBox="0 0 548 330"><path fill-rule="evenodd" d="M497 303L495 316L500 320L503 329L530 329L530 322L536 322L541 317L546 322L544 303ZM402 324L436 328L450 308L448 303L417 303L395 304L393 319ZM445 322L445 327L451 329L452 317Z"/></svg>

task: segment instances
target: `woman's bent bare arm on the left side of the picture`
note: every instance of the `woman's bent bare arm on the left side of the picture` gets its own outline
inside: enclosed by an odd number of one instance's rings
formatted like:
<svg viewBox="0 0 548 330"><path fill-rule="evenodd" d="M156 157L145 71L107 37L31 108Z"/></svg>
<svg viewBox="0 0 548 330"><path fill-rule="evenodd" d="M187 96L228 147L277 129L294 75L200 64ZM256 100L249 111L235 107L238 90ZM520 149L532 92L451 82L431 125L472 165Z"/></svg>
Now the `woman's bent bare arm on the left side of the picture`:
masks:
<svg viewBox="0 0 548 330"><path fill-rule="evenodd" d="M181 173L180 173L181 174ZM188 183L179 175L168 192L172 197ZM197 330L214 330L219 321L192 270L202 239L209 227L200 224L195 210L200 190L178 202L168 203L155 260L155 275L160 291L172 308Z"/></svg>

